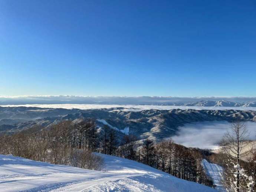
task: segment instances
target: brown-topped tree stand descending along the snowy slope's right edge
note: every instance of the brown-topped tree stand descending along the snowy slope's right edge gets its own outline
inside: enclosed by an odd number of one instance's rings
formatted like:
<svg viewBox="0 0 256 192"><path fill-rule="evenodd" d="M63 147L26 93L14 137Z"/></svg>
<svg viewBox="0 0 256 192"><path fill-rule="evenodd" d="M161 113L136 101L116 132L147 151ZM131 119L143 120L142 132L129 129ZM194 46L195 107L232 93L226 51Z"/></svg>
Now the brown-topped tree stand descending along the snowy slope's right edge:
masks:
<svg viewBox="0 0 256 192"><path fill-rule="evenodd" d="M118 149L120 157L137 160L177 178L213 186L201 165L203 155L199 150L175 144L172 140L154 143L150 139L145 139L142 145L135 149L136 145L129 143L128 137L125 136Z"/></svg>

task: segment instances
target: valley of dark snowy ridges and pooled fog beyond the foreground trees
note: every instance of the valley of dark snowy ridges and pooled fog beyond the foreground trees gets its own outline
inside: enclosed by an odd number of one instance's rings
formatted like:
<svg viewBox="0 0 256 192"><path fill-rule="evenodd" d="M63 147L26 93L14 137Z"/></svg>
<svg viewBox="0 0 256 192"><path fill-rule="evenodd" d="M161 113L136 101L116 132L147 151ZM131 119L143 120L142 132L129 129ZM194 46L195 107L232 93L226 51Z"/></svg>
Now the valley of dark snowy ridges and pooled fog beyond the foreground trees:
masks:
<svg viewBox="0 0 256 192"><path fill-rule="evenodd" d="M47 106L47 105L46 105ZM56 105L55 107L63 105ZM83 105L82 105L83 106ZM65 107L65 106L64 106ZM196 109L145 109L155 106L121 106L111 108L76 109L77 105L65 108L0 107L0 132L20 132L27 129L43 129L63 120L76 121L81 118L95 119L98 128L104 125L115 129L122 138L135 135L138 140L160 141L172 138L187 147L217 147L230 123L237 118L247 121L248 128L255 135L256 112L254 110L196 110ZM99 105L98 107L101 107ZM129 107L129 108L128 108ZM165 106L166 107L166 106Z"/></svg>

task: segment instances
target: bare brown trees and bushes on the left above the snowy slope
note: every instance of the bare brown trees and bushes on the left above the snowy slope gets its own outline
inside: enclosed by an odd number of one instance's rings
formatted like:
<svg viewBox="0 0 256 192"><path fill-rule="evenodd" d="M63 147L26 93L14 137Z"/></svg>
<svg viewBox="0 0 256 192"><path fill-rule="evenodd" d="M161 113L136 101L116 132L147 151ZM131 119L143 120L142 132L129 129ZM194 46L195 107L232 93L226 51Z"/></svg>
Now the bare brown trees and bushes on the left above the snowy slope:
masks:
<svg viewBox="0 0 256 192"><path fill-rule="evenodd" d="M88 137L92 138L95 127L91 120L86 123ZM74 127L72 122L64 121L48 130L27 131L14 135L4 134L0 136L0 154L12 154L27 159L85 169L101 169L103 159L92 153L97 145L96 139L88 140L88 143L90 142L88 145L81 145L81 143L84 144L81 132L78 128L72 129Z"/></svg>

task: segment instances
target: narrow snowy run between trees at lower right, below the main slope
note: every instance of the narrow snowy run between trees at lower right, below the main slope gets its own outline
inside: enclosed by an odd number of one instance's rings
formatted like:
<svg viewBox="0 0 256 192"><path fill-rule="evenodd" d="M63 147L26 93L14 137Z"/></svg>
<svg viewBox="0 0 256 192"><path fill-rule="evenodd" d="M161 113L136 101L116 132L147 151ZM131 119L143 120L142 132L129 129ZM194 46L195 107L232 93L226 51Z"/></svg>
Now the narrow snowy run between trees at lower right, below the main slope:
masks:
<svg viewBox="0 0 256 192"><path fill-rule="evenodd" d="M209 163L206 159L202 160L202 165L206 170L206 174L213 180L213 184L216 185L216 189L220 192L226 192L222 185L223 167L214 163Z"/></svg>

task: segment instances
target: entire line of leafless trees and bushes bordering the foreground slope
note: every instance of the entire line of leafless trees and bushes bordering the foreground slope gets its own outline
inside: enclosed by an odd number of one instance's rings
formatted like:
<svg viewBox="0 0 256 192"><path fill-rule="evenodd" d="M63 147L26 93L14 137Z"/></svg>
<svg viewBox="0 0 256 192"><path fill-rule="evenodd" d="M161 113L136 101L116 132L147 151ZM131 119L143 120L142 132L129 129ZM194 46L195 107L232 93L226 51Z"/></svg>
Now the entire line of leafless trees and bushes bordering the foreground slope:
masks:
<svg viewBox="0 0 256 192"><path fill-rule="evenodd" d="M177 145L172 140L142 143L134 135L117 138L116 130L98 128L93 119L59 122L50 128L3 134L0 153L32 160L99 170L103 159L92 152L119 156L144 163L175 177L213 186L206 175L199 149Z"/></svg>

